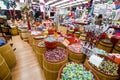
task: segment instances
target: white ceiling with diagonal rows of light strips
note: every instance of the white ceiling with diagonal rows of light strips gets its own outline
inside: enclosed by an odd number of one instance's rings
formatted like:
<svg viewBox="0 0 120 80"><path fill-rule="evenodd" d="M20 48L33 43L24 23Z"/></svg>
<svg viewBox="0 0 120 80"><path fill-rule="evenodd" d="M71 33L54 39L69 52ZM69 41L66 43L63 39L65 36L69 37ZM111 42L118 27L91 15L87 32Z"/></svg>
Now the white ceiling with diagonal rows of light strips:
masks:
<svg viewBox="0 0 120 80"><path fill-rule="evenodd" d="M20 0L15 0L19 2ZM78 6L82 4L88 3L88 0L31 0L33 2L43 2L46 5L50 5L51 7L58 7L58 8L66 8L70 6ZM108 0L94 0L95 4L97 3L105 3ZM30 0L28 0L30 2Z"/></svg>

